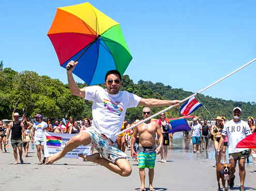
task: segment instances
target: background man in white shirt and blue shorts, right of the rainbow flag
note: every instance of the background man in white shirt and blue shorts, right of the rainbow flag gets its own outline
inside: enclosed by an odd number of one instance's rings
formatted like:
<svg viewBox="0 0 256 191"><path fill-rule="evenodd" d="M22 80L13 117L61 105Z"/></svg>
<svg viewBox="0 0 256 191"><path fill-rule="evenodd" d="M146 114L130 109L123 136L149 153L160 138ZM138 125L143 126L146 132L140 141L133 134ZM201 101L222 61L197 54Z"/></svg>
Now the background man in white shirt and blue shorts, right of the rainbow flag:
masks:
<svg viewBox="0 0 256 191"><path fill-rule="evenodd" d="M193 118L193 124L191 129L191 139L193 142L193 153L197 151L200 153L199 144L202 136L202 125L198 123L197 118Z"/></svg>

